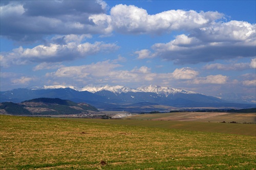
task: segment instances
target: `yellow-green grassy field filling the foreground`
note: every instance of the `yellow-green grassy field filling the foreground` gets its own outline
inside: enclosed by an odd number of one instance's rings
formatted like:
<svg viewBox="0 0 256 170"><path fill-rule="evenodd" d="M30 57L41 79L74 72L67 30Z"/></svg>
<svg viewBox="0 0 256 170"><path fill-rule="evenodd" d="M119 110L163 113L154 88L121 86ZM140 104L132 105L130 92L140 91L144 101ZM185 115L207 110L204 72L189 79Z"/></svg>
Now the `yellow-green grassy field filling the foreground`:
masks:
<svg viewBox="0 0 256 170"><path fill-rule="evenodd" d="M256 169L255 136L106 123L0 115L0 169Z"/></svg>

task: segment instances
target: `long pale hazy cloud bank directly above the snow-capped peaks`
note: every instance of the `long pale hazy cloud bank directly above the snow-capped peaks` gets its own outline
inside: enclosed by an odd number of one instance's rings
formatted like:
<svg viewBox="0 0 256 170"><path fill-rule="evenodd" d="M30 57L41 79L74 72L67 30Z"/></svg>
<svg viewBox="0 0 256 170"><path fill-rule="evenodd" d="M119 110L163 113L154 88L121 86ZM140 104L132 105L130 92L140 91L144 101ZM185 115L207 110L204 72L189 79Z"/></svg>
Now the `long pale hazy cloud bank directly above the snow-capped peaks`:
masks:
<svg viewBox="0 0 256 170"><path fill-rule="evenodd" d="M46 77L59 82L60 80L70 82L70 84L102 84L104 82L114 84L169 84L173 80L197 79L198 71L189 67L177 68L174 72L156 73L147 66L134 67L131 70L121 69L123 66L117 64L115 60L106 60L88 65L62 66L54 72L49 72ZM67 79L68 78L68 79ZM206 81L208 83L208 77ZM203 78L201 78L203 81ZM214 77L217 80L217 77ZM219 80L217 80L219 81ZM82 84L83 83L83 84ZM202 82L201 82L202 83ZM216 84L220 82L214 82ZM60 83L61 84L61 83ZM69 83L68 83L69 84Z"/></svg>

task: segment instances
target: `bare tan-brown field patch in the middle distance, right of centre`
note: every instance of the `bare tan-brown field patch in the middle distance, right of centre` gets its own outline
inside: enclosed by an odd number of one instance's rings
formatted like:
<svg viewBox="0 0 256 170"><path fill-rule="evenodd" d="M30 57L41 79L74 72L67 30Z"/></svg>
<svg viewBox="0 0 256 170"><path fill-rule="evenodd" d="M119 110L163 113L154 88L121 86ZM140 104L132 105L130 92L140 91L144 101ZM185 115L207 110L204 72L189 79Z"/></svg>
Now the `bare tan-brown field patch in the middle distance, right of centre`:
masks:
<svg viewBox="0 0 256 170"><path fill-rule="evenodd" d="M212 118L215 116L225 115L228 113L218 112L184 112L184 113L173 113L167 117L155 118L152 120L174 120L174 121L195 121L205 118Z"/></svg>

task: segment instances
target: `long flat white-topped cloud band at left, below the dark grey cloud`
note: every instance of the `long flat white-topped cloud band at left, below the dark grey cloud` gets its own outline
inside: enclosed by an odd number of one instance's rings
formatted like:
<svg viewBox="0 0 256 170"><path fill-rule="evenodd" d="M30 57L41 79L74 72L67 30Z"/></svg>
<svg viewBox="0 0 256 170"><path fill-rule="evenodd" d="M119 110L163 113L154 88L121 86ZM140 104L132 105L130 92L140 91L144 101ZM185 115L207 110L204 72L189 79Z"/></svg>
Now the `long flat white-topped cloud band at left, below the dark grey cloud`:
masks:
<svg viewBox="0 0 256 170"><path fill-rule="evenodd" d="M12 64L23 65L31 62L61 62L77 58L84 58L100 52L108 53L118 49L116 44L95 42L77 43L67 42L62 44L50 43L37 45L33 48L15 48L11 52L2 53L1 66L9 67Z"/></svg>

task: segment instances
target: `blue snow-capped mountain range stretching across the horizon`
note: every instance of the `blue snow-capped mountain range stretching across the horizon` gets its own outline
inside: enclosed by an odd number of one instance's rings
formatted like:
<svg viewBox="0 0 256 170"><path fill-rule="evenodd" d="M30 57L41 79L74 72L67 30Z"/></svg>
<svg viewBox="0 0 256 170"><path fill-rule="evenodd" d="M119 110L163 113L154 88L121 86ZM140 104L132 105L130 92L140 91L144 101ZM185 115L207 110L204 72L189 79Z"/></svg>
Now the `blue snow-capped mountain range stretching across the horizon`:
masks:
<svg viewBox="0 0 256 170"><path fill-rule="evenodd" d="M184 89L149 85L136 89L124 86L43 86L1 91L1 102L19 103L35 98L59 98L86 102L103 110L166 110L174 108L250 108L255 104L231 103L214 96Z"/></svg>

